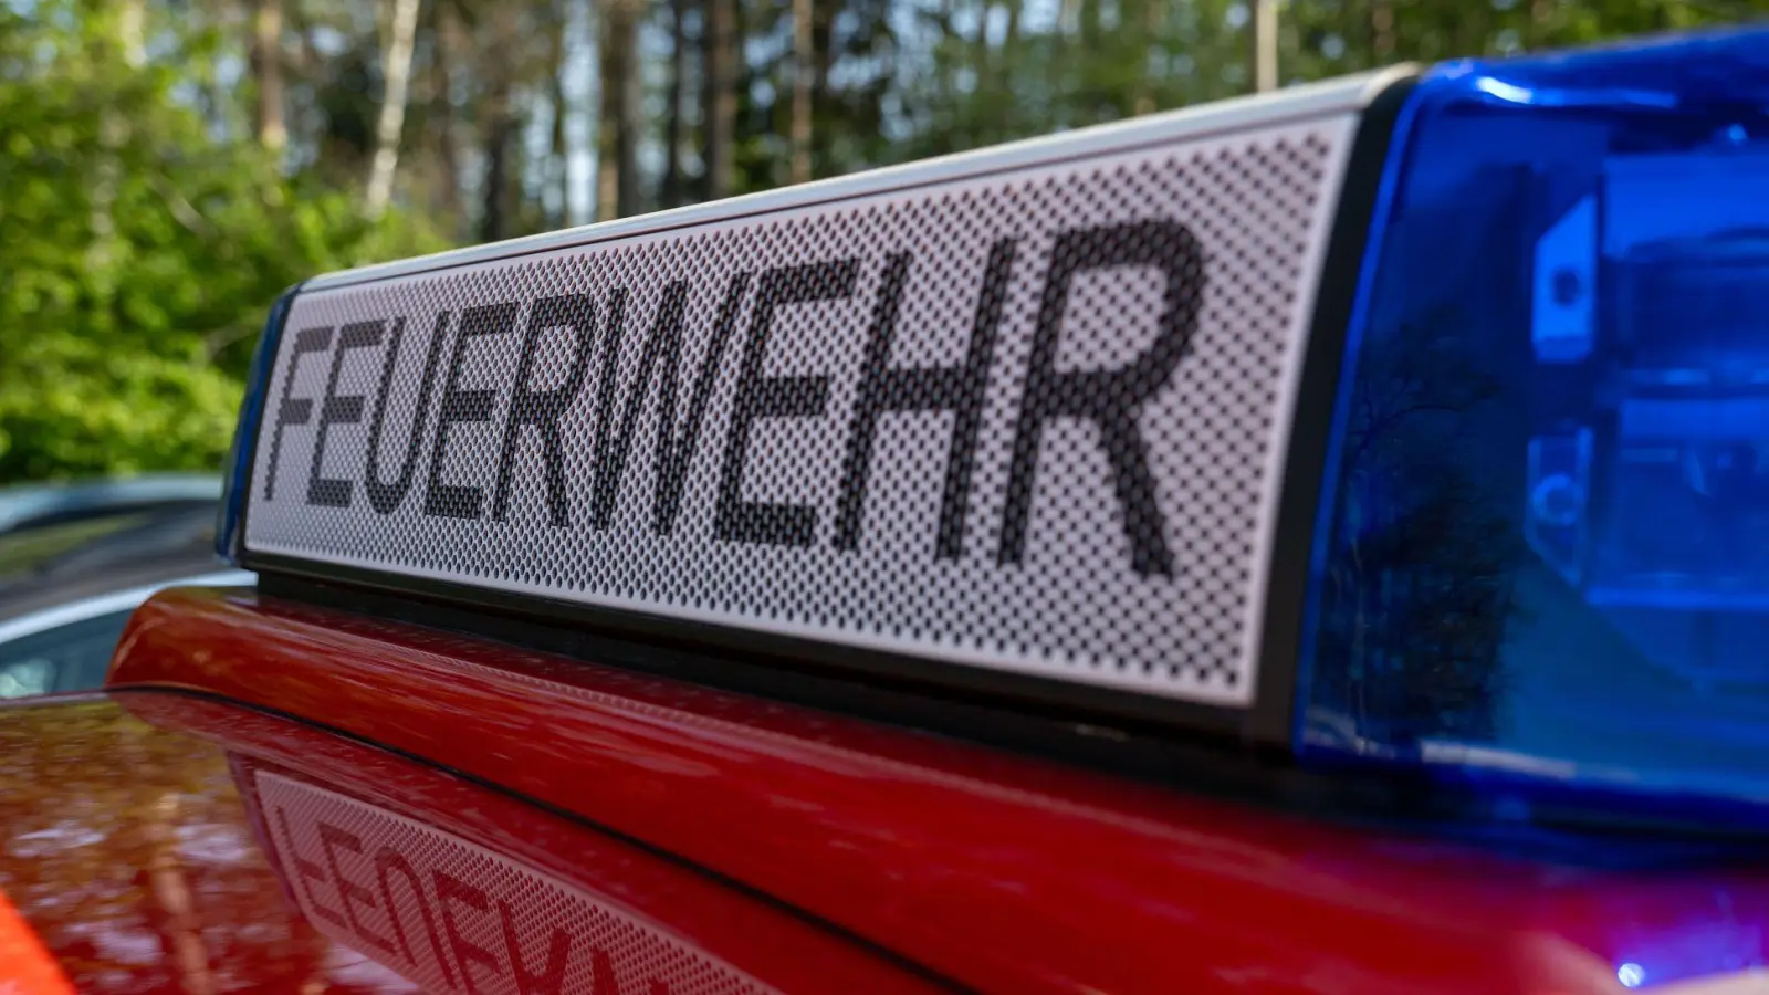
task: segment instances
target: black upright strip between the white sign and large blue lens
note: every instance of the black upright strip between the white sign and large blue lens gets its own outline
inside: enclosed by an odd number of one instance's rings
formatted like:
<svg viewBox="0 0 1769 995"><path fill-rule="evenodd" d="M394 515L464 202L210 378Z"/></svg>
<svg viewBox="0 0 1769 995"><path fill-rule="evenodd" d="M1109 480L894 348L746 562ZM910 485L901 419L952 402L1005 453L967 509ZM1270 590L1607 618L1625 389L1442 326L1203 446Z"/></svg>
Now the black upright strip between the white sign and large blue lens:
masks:
<svg viewBox="0 0 1769 995"><path fill-rule="evenodd" d="M1309 593L1309 556L1332 446L1334 405L1344 345L1357 306L1359 276L1369 246L1376 198L1394 143L1394 126L1413 94L1419 76L1405 76L1383 89L1364 108L1352 140L1339 207L1334 212L1327 255L1314 292L1314 317L1302 356L1302 377L1290 416L1290 450L1277 496L1277 528L1272 533L1265 584L1265 621L1260 629L1258 690L1245 712L1249 744L1291 749L1302 629Z"/></svg>

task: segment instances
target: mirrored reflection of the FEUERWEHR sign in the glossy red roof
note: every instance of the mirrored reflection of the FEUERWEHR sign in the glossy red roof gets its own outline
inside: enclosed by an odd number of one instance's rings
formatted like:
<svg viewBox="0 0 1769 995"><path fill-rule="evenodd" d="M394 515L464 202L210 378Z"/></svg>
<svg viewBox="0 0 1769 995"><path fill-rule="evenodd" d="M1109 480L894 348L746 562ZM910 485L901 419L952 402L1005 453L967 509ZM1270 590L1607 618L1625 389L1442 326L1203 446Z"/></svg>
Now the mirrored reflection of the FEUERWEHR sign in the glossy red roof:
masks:
<svg viewBox="0 0 1769 995"><path fill-rule="evenodd" d="M276 774L258 774L258 797L301 914L425 991L773 991L644 919L423 823Z"/></svg>

